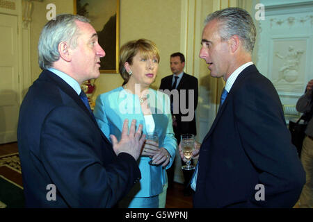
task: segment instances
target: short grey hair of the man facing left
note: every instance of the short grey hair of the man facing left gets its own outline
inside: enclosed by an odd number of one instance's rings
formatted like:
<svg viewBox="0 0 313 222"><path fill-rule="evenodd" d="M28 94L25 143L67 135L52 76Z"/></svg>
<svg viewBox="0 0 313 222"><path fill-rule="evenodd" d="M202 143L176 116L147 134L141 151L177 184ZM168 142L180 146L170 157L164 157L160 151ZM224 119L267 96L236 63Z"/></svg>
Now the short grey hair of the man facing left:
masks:
<svg viewBox="0 0 313 222"><path fill-rule="evenodd" d="M204 26L216 19L221 23L219 34L221 39L228 40L232 35L238 35L243 42L243 48L252 53L255 46L257 31L252 17L242 8L225 8L207 16Z"/></svg>

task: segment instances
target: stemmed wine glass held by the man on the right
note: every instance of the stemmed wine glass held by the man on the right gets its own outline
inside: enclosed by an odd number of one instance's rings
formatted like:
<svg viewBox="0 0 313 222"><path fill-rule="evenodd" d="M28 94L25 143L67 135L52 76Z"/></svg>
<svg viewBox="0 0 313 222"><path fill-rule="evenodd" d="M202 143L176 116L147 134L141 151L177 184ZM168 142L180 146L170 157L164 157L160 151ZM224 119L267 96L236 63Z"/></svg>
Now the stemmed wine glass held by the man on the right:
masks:
<svg viewBox="0 0 313 222"><path fill-rule="evenodd" d="M195 166L190 164L191 157L193 157L193 149L195 148L195 136L193 134L182 134L182 151L187 162L182 166L182 169L190 171L195 169Z"/></svg>

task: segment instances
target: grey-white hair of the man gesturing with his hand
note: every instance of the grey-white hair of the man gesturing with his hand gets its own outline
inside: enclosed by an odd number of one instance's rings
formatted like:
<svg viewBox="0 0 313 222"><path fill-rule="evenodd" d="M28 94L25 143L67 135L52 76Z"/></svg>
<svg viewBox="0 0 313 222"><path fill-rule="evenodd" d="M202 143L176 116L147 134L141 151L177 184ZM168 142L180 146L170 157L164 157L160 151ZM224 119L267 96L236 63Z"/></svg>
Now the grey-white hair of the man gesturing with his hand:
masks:
<svg viewBox="0 0 313 222"><path fill-rule="evenodd" d="M52 67L60 58L60 42L68 42L75 49L80 34L75 21L90 23L89 19L81 15L62 14L47 22L42 29L38 42L38 62L41 69Z"/></svg>

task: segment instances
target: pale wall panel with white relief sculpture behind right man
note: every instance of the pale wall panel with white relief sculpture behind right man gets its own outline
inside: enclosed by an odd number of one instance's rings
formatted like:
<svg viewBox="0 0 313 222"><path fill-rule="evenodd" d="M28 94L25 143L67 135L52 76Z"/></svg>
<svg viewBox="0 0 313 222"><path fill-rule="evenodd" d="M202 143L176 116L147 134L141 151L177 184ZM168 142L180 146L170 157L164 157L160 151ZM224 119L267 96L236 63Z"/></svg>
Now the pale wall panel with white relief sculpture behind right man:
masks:
<svg viewBox="0 0 313 222"><path fill-rule="evenodd" d="M272 81L282 104L295 105L312 75L312 9L312 1L266 6L266 19L259 22L258 68Z"/></svg>

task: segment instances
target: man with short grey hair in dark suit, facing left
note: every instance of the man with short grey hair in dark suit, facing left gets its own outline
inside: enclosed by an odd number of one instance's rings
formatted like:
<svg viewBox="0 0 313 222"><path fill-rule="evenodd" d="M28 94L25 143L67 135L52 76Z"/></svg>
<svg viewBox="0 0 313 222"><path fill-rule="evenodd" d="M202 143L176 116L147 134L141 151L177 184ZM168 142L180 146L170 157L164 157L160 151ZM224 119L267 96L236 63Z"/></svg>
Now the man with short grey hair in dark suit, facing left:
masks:
<svg viewBox="0 0 313 222"><path fill-rule="evenodd" d="M241 8L226 8L205 22L200 58L226 85L200 147L193 206L293 207L305 172L278 93L252 63L252 18Z"/></svg>

